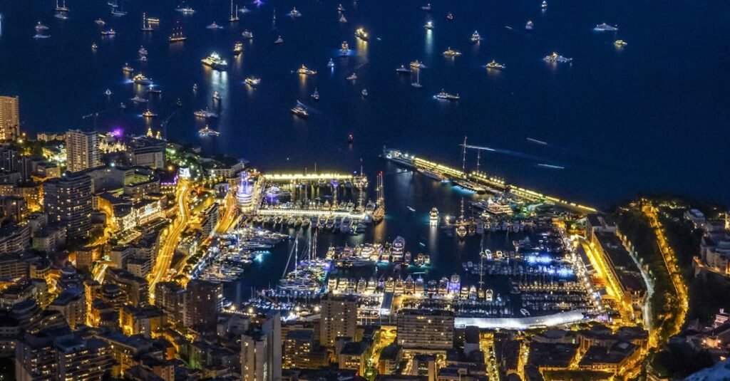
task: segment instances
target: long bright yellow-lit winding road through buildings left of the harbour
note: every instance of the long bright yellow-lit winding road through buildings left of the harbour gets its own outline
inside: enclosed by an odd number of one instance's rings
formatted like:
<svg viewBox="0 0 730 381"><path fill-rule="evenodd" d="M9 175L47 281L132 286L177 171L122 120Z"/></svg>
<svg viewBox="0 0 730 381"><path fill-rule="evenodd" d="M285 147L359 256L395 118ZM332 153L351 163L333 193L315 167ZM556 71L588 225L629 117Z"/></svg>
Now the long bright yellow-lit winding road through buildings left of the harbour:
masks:
<svg viewBox="0 0 730 381"><path fill-rule="evenodd" d="M177 184L177 193L175 201L177 203L177 218L172 225L167 228L167 233L160 239L161 247L155 261L155 268L147 278L150 282L150 303L155 300L155 285L166 276L170 265L172 264L172 256L175 253L177 243L180 241L180 234L183 234L185 226L188 226L190 220L190 207L186 199L192 190L191 184L187 180L180 179Z"/></svg>

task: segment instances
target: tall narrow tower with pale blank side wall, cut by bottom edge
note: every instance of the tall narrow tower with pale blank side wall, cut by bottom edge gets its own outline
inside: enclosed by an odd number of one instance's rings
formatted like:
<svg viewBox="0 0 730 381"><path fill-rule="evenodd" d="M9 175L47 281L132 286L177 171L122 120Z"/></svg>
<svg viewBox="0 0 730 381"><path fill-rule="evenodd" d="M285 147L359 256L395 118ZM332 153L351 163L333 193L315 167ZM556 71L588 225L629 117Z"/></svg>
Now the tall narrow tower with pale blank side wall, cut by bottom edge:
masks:
<svg viewBox="0 0 730 381"><path fill-rule="evenodd" d="M277 312L261 325L241 335L242 381L281 380L281 315Z"/></svg>

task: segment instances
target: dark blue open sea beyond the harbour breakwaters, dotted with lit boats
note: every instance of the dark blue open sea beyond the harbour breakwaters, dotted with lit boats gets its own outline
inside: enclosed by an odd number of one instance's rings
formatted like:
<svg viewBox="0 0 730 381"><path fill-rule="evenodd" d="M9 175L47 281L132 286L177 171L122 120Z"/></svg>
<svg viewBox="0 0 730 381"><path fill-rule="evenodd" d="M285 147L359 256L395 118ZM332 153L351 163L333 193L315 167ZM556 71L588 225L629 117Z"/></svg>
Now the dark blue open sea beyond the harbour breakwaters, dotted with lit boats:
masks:
<svg viewBox="0 0 730 381"><path fill-rule="evenodd" d="M118 110L137 88L121 72L129 62L163 90L150 104L160 115L155 129L180 98L185 106L169 120L169 139L262 169L317 163L355 170L364 158L374 173L383 166L383 145L458 165L458 144L469 136L471 144L500 150L483 155L488 172L586 204L606 207L658 191L730 201L730 7L721 1L552 0L545 12L537 0L434 1L429 13L420 1L361 0L343 2L345 24L337 1L239 1L252 12L234 24L226 0L188 1L194 15L175 12L175 1L119 0L128 12L120 18L103 0L67 1L68 20L53 18L51 0L0 1L0 93L20 96L23 129L31 133L91 128L81 116L102 110L109 111L97 121L100 130L146 131L144 108ZM287 16L293 6L303 17ZM142 12L161 18L153 33L139 31ZM455 20L446 20L447 12ZM102 38L96 18L118 35ZM39 20L50 26L50 39L31 38ZM182 45L167 42L176 20L189 37ZM225 28L205 28L214 20ZM429 20L433 31L423 28ZM531 32L523 28L527 20L534 21ZM620 29L592 31L602 22ZM358 26L370 31L369 42L353 36ZM244 29L255 37L234 58ZM484 38L478 45L469 41L475 30ZM277 35L283 45L273 44ZM615 39L629 45L617 50ZM353 48L347 58L338 57L342 41ZM140 45L150 52L147 63L138 61ZM463 55L445 58L447 47ZM574 62L546 65L541 58L553 50ZM228 59L228 72L201 65L212 51ZM332 71L329 58L337 63ZM429 66L420 90L394 71L415 59ZM492 59L507 69L488 73L483 65ZM302 63L319 73L292 74ZM353 72L359 79L345 80ZM262 78L256 89L242 83L252 74ZM318 104L309 97L315 88ZM441 88L461 101L435 101ZM221 118L211 123L221 134L201 139L192 112L212 107L213 91L223 96ZM298 99L311 106L306 121L289 112ZM475 152L468 161L475 165Z"/></svg>

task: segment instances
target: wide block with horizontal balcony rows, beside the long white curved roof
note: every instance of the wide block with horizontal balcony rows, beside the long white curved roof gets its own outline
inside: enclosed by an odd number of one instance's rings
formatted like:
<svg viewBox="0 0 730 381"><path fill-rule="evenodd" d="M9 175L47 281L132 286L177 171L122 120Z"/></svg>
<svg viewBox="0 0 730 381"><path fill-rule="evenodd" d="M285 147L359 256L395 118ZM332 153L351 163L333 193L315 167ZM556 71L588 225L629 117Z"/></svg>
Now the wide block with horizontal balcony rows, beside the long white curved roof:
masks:
<svg viewBox="0 0 730 381"><path fill-rule="evenodd" d="M448 350L453 347L453 312L403 309L398 315L397 328L397 343L406 349Z"/></svg>

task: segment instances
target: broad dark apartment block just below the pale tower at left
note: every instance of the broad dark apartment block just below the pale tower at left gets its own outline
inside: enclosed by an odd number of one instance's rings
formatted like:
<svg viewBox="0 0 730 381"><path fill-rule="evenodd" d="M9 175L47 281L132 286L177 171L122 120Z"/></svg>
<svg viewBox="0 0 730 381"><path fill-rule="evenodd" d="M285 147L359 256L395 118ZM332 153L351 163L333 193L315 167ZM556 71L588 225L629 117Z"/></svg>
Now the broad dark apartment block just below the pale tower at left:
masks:
<svg viewBox="0 0 730 381"><path fill-rule="evenodd" d="M91 230L93 184L88 174L66 173L43 184L48 223L66 226L69 238L84 238Z"/></svg>

